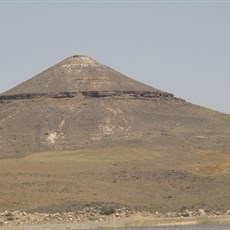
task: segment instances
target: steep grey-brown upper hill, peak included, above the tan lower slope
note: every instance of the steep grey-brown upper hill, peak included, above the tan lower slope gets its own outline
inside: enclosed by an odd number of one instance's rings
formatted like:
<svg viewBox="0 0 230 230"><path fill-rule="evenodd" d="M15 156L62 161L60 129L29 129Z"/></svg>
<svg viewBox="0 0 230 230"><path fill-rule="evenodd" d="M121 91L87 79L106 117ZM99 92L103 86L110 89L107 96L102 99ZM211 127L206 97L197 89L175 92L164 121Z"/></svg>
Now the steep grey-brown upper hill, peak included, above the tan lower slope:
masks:
<svg viewBox="0 0 230 230"><path fill-rule="evenodd" d="M229 122L75 55L0 95L0 154L89 145L224 150Z"/></svg>

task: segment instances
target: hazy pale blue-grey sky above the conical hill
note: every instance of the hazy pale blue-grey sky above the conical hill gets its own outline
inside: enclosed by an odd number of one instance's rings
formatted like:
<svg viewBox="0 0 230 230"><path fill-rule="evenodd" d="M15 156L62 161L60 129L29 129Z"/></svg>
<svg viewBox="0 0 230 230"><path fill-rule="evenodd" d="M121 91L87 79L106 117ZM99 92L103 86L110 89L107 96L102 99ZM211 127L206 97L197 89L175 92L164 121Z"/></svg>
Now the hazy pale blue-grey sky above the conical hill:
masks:
<svg viewBox="0 0 230 230"><path fill-rule="evenodd" d="M0 92L84 54L230 114L230 1L1 1Z"/></svg>

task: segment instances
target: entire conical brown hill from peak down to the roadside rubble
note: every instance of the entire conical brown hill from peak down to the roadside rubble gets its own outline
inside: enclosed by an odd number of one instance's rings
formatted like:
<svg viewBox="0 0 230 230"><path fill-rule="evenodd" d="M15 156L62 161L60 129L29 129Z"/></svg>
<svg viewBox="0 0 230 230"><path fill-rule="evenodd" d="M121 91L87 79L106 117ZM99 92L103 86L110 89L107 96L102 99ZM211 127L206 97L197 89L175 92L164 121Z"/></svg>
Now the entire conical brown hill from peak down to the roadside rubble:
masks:
<svg viewBox="0 0 230 230"><path fill-rule="evenodd" d="M0 209L226 211L229 137L230 115L75 55L0 95Z"/></svg>

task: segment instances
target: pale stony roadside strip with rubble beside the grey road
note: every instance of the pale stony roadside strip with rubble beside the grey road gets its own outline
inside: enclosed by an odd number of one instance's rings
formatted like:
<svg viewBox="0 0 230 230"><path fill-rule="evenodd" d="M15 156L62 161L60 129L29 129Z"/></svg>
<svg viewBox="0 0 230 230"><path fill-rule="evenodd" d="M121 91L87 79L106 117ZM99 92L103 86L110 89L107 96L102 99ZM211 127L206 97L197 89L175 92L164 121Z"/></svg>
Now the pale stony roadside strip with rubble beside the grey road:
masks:
<svg viewBox="0 0 230 230"><path fill-rule="evenodd" d="M25 212L1 213L1 218L6 219L0 222L0 229L7 230L76 230L76 229L116 229L119 227L148 227L148 226L185 226L185 225L228 225L230 216L223 215L202 215L190 217L167 217L162 214L152 214L148 212L118 212L103 216L90 212L87 215L91 219L82 220L86 214L76 214L68 212L64 214L55 213L28 214ZM11 215L9 215L11 214ZM93 215L94 214L94 215ZM193 213L192 213L193 214Z"/></svg>

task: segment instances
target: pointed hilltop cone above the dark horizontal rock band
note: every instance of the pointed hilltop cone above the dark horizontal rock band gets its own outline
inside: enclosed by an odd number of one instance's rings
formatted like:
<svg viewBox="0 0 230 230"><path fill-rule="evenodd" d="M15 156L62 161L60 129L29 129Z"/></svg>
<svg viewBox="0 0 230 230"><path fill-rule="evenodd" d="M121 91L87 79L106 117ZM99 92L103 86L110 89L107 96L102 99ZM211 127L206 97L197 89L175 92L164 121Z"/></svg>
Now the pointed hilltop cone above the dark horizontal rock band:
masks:
<svg viewBox="0 0 230 230"><path fill-rule="evenodd" d="M67 58L3 95L77 92L150 91L150 86L134 81L87 56Z"/></svg>

